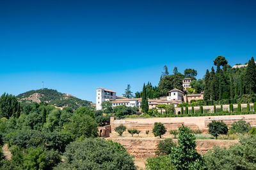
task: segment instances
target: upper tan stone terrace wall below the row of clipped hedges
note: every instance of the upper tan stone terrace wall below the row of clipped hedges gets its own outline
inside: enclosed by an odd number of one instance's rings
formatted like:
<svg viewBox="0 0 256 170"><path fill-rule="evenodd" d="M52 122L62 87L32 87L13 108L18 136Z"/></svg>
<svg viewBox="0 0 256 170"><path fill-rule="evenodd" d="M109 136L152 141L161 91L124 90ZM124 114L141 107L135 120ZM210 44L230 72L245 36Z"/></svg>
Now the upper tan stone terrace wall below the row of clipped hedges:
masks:
<svg viewBox="0 0 256 170"><path fill-rule="evenodd" d="M212 117L166 117L166 118L124 118L120 120L115 120L114 117L111 117L110 125L111 132L115 134L115 127L123 124L127 129L138 129L141 131L140 136L145 136L145 131L150 131L154 128L155 122L161 122L167 128L167 131L173 129L178 129L179 126L184 124L193 130L199 129L202 132L208 132L207 125L212 122L212 120L217 120L225 122L230 126L233 122L238 120L245 120L250 122L253 127L256 127L256 115L225 115L225 116L212 116ZM128 134L128 132L124 132Z"/></svg>

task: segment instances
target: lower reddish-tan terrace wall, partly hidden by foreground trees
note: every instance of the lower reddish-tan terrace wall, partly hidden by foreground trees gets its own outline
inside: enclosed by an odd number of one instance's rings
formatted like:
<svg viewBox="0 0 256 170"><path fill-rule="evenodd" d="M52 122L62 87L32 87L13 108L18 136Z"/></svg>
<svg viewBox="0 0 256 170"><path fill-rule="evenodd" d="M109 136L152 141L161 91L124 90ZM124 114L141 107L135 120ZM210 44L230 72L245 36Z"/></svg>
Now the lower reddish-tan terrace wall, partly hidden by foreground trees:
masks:
<svg viewBox="0 0 256 170"><path fill-rule="evenodd" d="M159 138L148 139L148 138L106 138L107 140L112 140L120 143L124 146L127 152L134 155L136 158L147 159L148 157L154 157L157 150L157 144L160 140ZM177 143L177 139L173 139ZM214 140L214 139L196 139L196 150L200 154L204 154L214 145L220 147L229 147L238 143L237 140Z"/></svg>

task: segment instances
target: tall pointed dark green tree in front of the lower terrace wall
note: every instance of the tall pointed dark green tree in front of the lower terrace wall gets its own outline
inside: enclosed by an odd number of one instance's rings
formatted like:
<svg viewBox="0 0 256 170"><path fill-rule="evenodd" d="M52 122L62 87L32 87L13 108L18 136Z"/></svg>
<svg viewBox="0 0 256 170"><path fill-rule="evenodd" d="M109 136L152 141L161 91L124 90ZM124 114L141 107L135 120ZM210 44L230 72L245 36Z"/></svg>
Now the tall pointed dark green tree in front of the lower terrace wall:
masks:
<svg viewBox="0 0 256 170"><path fill-rule="evenodd" d="M188 127L179 127L179 146L174 147L170 154L170 161L176 169L203 169L204 161L196 152L195 139Z"/></svg>

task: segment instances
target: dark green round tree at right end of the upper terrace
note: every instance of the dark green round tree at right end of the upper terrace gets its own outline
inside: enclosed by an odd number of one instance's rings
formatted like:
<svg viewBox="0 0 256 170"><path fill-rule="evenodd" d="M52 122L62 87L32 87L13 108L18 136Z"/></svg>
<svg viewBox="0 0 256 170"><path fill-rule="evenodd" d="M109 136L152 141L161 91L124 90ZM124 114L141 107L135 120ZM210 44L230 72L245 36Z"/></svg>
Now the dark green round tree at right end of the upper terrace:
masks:
<svg viewBox="0 0 256 170"><path fill-rule="evenodd" d="M207 126L209 127L209 134L214 136L216 139L218 138L218 136L220 134L227 134L227 132L228 132L228 127L223 121L217 122L217 121L213 120Z"/></svg>

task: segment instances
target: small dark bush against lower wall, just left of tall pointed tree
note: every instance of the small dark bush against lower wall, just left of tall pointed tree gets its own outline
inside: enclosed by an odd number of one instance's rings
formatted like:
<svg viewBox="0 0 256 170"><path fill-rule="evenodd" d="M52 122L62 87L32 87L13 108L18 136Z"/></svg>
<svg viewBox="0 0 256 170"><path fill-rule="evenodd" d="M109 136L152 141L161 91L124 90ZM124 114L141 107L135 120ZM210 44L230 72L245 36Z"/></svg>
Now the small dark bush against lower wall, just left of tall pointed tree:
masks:
<svg viewBox="0 0 256 170"><path fill-rule="evenodd" d="M161 140L157 145L156 155L169 155L172 152L172 148L174 146L176 146L176 144L172 141L171 138Z"/></svg>

